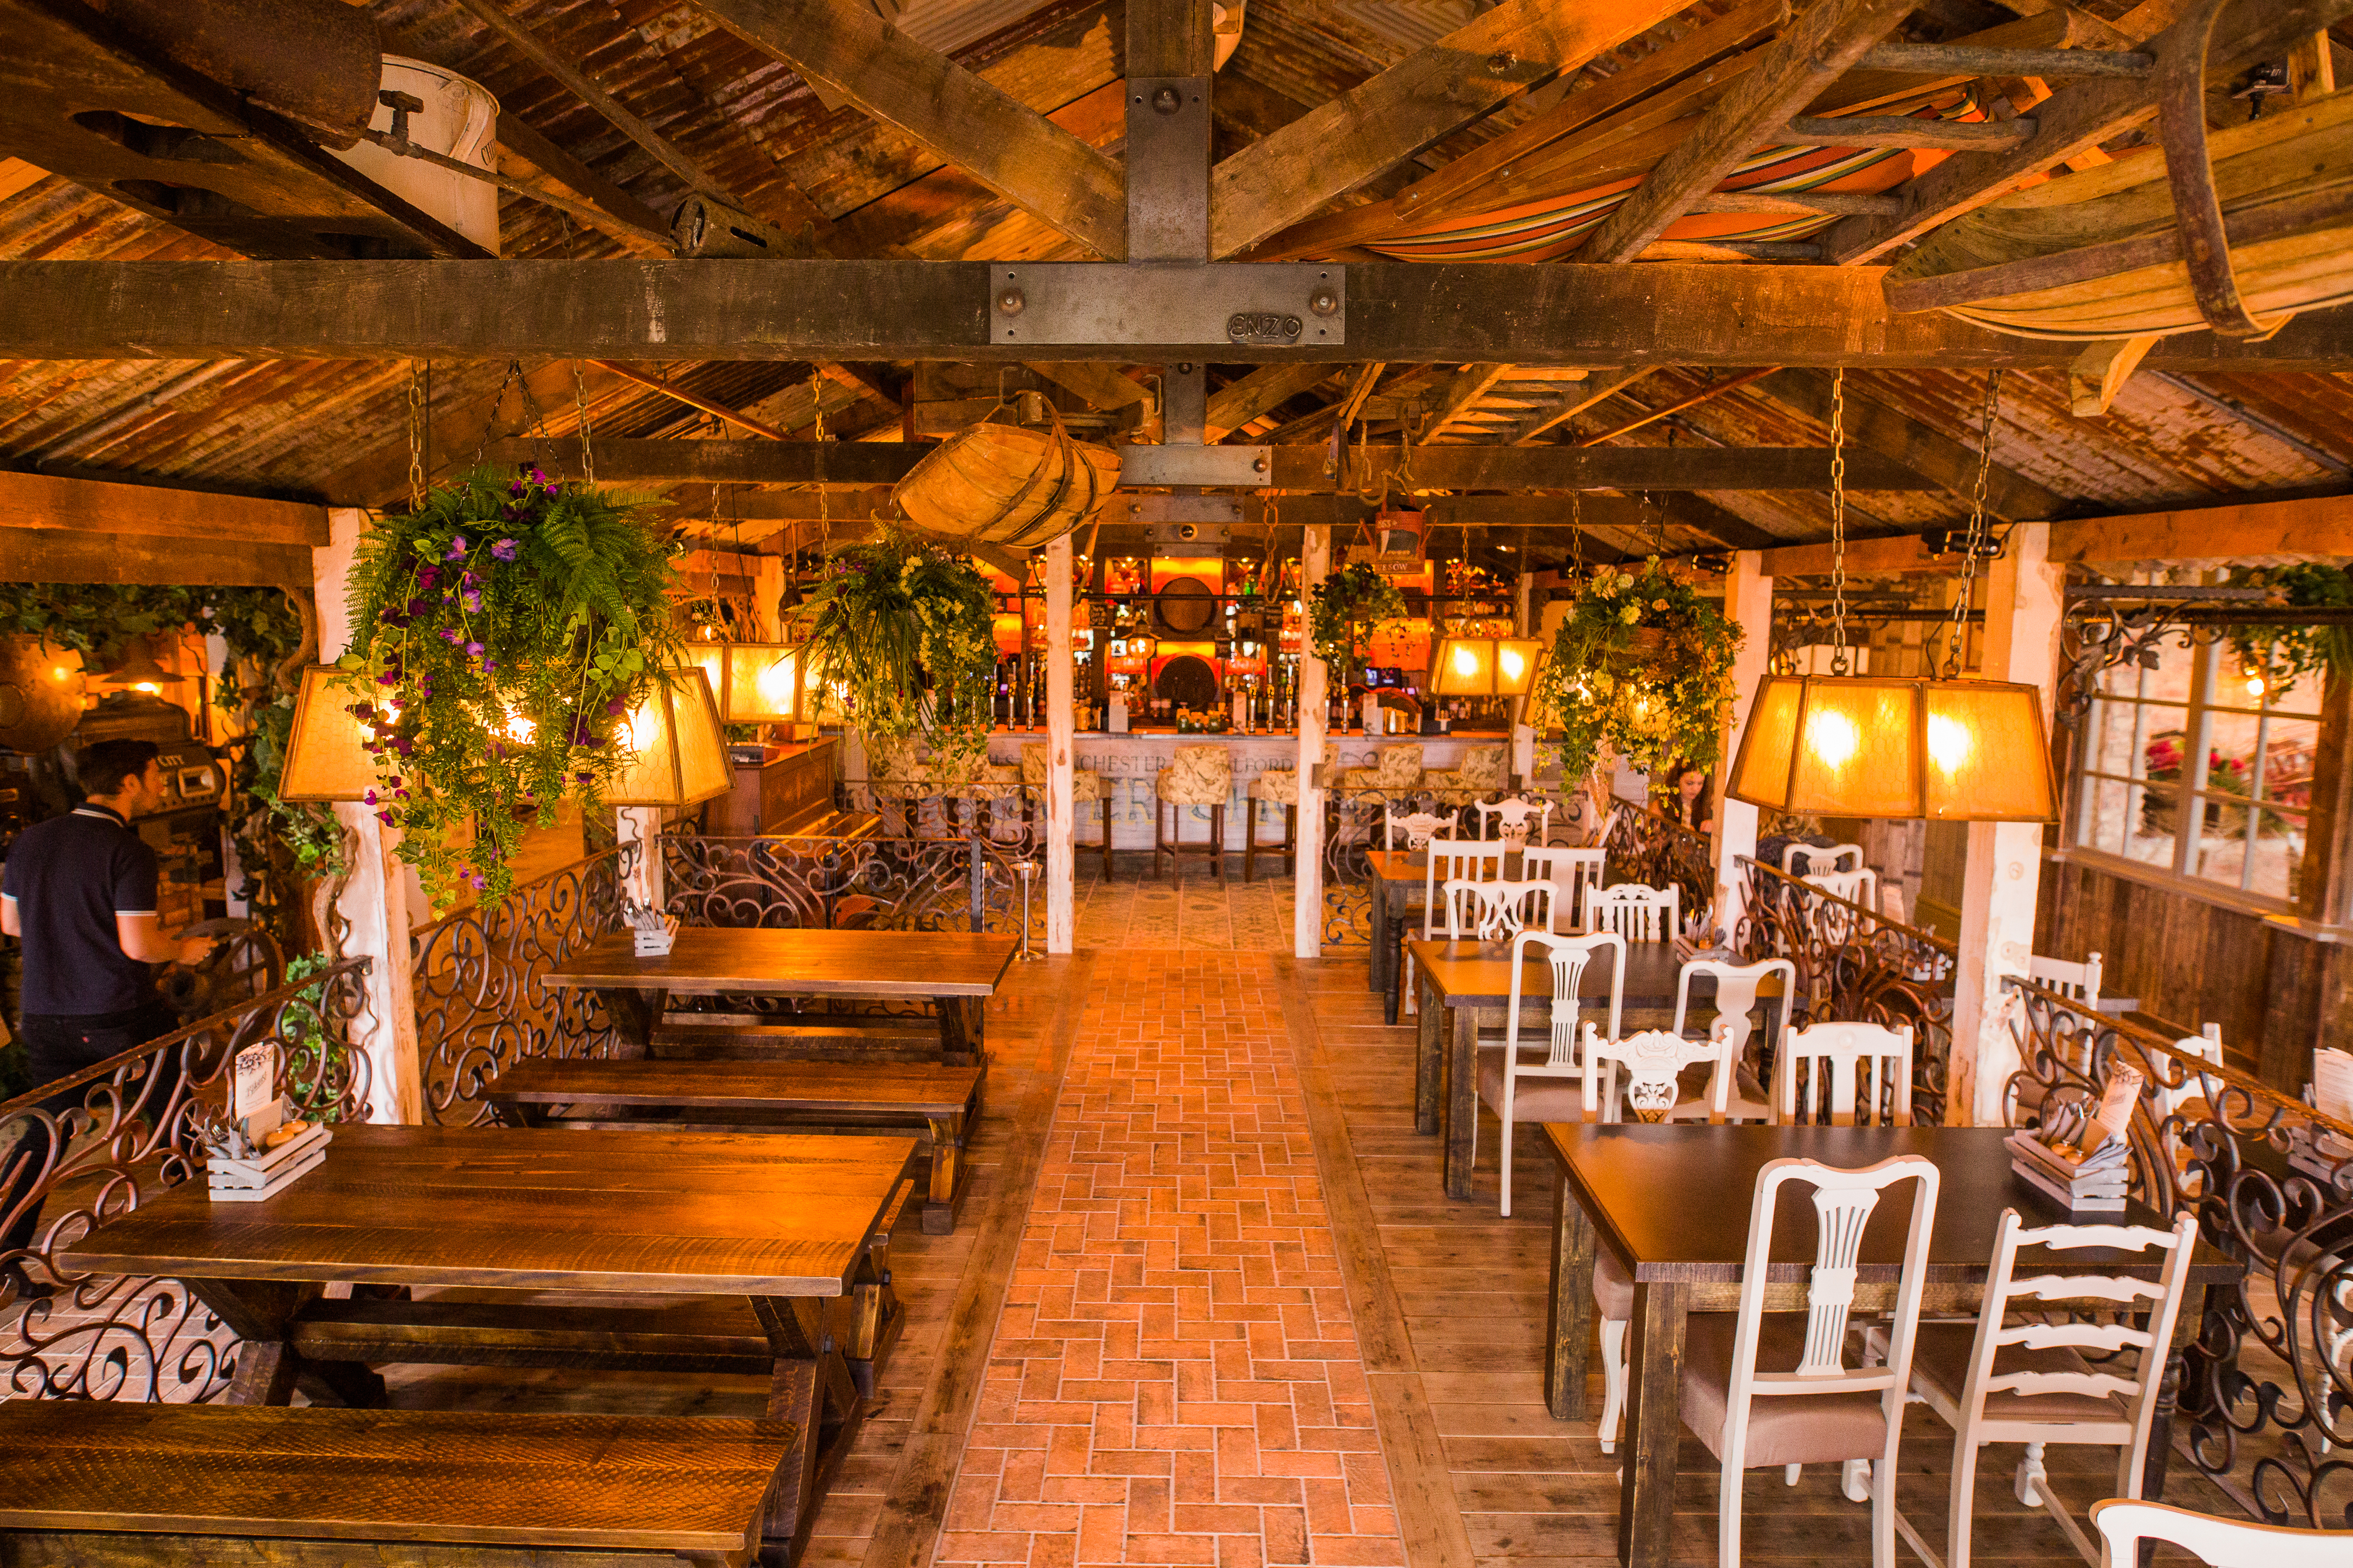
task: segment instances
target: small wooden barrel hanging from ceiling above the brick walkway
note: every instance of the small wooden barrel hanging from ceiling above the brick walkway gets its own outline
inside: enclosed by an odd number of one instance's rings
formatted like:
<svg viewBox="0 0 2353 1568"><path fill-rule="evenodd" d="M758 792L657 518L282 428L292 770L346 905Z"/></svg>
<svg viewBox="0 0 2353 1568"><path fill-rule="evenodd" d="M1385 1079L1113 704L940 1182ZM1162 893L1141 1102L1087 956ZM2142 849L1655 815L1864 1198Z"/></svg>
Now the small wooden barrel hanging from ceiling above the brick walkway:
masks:
<svg viewBox="0 0 2353 1568"><path fill-rule="evenodd" d="M892 487L892 501L944 541L1035 550L1087 522L1118 484L1120 454L1071 440L1054 414L1047 430L986 421L958 430Z"/></svg>

